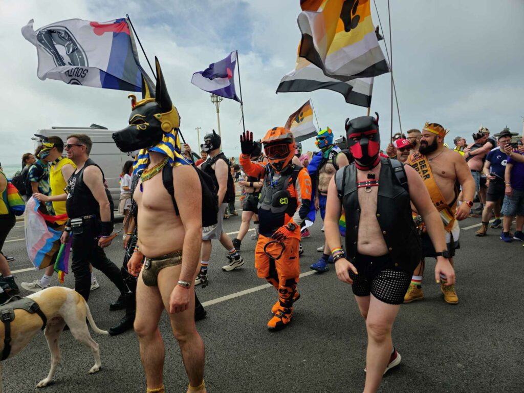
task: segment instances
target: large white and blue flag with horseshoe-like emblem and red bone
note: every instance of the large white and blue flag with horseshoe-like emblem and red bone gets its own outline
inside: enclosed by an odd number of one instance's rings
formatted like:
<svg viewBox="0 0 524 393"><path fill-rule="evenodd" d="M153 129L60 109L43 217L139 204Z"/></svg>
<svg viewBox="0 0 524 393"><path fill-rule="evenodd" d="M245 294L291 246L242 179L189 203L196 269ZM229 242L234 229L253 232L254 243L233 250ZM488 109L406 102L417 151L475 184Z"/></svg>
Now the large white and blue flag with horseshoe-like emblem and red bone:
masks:
<svg viewBox="0 0 524 393"><path fill-rule="evenodd" d="M103 23L68 19L36 31L33 23L29 20L22 35L37 48L39 79L141 91L141 73L147 75L138 61L127 19Z"/></svg>

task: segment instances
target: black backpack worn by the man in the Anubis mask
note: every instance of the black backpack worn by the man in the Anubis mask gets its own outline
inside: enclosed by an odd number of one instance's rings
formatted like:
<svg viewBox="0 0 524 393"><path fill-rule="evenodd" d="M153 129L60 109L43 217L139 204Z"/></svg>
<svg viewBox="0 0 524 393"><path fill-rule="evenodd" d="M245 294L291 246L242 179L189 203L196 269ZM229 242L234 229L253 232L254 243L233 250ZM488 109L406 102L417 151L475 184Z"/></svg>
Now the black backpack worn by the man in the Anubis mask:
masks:
<svg viewBox="0 0 524 393"><path fill-rule="evenodd" d="M193 168L196 170L196 173L198 173L202 187L202 226L215 225L218 222L217 219L219 215L219 196L213 191L213 179L209 174L196 168L194 165ZM169 195L171 195L174 211L177 215L180 215L177 201L174 199L173 169L170 165L162 168L162 183L167 192L169 192Z"/></svg>

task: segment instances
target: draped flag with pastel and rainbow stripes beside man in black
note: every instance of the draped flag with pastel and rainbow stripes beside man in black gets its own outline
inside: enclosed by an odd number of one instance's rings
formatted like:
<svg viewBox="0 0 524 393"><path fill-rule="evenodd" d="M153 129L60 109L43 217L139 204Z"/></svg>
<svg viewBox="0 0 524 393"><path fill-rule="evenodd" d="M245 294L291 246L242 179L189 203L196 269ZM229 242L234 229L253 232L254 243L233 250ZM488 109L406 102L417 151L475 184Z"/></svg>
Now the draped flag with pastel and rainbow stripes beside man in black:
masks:
<svg viewBox="0 0 524 393"><path fill-rule="evenodd" d="M70 245L63 248L59 255L62 244L60 236L62 235L62 226L53 228L50 224L67 219L67 214L51 216L41 213L38 208L40 202L31 197L26 204L25 212L25 234L27 255L35 270L44 269L53 264L58 271L60 282L63 283L64 275L69 272L69 250Z"/></svg>

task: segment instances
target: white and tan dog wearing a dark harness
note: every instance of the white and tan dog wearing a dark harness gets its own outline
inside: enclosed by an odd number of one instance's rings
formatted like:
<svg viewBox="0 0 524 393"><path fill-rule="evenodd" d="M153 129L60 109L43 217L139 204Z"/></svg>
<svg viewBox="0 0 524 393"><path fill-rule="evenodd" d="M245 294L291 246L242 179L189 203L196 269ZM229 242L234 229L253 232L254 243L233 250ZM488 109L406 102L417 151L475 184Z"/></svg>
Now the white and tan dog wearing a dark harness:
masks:
<svg viewBox="0 0 524 393"><path fill-rule="evenodd" d="M51 381L58 363L60 362L60 350L58 339L65 324L69 326L73 337L87 347L91 348L95 357L95 365L91 367L89 373L100 371L99 345L91 338L88 325L85 323L87 318L91 328L99 334L109 334L105 330L97 328L88 303L78 292L70 288L52 287L40 292L32 293L28 298L36 301L40 310L46 315L46 339L51 351L51 369L47 378L42 379L37 387L46 386ZM11 322L11 352L9 357L15 356L27 343L42 329L42 320L36 313L30 314L25 310L15 310L15 319ZM5 325L0 322L0 348L4 349ZM0 362L0 393L2 393L2 363Z"/></svg>

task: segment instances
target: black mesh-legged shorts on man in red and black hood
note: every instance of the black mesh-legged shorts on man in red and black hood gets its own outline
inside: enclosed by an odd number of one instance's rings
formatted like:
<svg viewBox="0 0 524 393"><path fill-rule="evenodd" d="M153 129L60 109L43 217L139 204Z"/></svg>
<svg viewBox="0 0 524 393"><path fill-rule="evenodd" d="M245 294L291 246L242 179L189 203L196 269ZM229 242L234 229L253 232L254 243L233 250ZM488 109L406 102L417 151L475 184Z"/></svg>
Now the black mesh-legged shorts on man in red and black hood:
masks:
<svg viewBox="0 0 524 393"><path fill-rule="evenodd" d="M353 263L357 268L358 275L350 270L353 280L351 286L355 296L373 296L388 304L402 304L404 296L411 283L412 272L407 272L391 267L391 256L383 255L372 257L357 254Z"/></svg>

